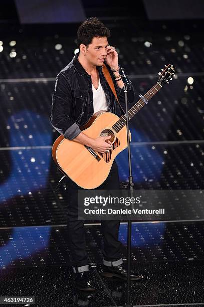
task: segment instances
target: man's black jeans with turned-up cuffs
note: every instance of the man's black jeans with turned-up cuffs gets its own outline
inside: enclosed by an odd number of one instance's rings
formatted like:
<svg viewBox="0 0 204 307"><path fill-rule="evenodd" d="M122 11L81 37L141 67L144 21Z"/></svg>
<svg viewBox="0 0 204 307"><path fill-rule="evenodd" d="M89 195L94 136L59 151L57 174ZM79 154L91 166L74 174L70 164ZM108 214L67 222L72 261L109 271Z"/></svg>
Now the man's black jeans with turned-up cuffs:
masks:
<svg viewBox="0 0 204 307"><path fill-rule="evenodd" d="M68 200L68 237L74 271L82 271L88 266L88 255L86 252L84 220L78 220L78 189L71 179L66 178L66 194ZM105 182L99 186L99 190L118 190L119 176L116 162L113 162L111 171ZM121 242L118 241L120 221L101 220L103 235L103 256L104 264L116 266L122 263ZM115 263L114 263L115 262Z"/></svg>

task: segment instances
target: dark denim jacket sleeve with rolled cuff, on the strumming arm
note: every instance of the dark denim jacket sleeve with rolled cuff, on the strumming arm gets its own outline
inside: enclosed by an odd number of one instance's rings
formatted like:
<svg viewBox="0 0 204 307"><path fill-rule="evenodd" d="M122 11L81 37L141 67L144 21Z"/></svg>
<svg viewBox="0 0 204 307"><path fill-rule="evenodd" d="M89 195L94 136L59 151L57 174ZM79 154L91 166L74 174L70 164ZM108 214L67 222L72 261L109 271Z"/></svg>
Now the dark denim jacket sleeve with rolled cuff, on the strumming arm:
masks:
<svg viewBox="0 0 204 307"><path fill-rule="evenodd" d="M73 139L81 133L79 126L71 118L72 89L69 81L61 72L58 74L52 96L52 126L65 138Z"/></svg>

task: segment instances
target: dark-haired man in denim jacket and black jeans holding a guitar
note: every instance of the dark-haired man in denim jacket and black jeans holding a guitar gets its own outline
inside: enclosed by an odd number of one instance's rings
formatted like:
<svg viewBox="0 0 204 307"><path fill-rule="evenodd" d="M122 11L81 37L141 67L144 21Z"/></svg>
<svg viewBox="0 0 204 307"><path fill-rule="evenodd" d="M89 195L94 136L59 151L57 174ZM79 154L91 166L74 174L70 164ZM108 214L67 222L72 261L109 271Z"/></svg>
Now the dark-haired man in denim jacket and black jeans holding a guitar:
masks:
<svg viewBox="0 0 204 307"><path fill-rule="evenodd" d="M92 147L98 152L106 152L112 147L110 136L88 137L80 126L99 110L115 112L116 99L108 85L102 66L105 63L115 83L120 101L124 102L124 83L119 74L118 54L108 43L110 30L97 18L90 18L79 27L77 40L79 53L58 74L52 103L51 123L65 138ZM134 90L128 86L128 101L133 102ZM82 290L95 290L89 280L89 261L86 252L85 230L83 221L78 220L78 189L69 178L66 179L68 196L68 231L70 250L76 286ZM116 162L110 174L98 189L119 189ZM103 269L101 275L126 279L127 272L122 267L121 243L118 241L118 220L101 221L103 234ZM132 280L141 279L142 275L131 275Z"/></svg>

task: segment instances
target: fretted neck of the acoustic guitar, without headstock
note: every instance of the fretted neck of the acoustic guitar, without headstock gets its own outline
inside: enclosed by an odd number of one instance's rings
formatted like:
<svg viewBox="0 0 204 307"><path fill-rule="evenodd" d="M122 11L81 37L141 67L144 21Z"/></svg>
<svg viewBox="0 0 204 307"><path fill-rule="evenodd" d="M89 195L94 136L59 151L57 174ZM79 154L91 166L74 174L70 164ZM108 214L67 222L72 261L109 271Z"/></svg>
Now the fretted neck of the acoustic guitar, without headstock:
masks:
<svg viewBox="0 0 204 307"><path fill-rule="evenodd" d="M145 101L139 99L128 111L128 120L132 119L143 106L160 90L162 86L157 82L152 88L144 95ZM119 132L126 125L125 114L120 117L120 119L112 126L115 132Z"/></svg>

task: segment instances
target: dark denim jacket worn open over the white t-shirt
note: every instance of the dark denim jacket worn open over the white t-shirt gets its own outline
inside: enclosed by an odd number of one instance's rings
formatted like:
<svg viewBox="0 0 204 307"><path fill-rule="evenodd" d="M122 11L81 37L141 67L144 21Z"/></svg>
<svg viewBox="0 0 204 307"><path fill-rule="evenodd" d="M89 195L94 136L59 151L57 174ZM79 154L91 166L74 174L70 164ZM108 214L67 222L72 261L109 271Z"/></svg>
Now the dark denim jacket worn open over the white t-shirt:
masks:
<svg viewBox="0 0 204 307"><path fill-rule="evenodd" d="M65 138L73 139L81 133L80 126L84 125L93 115L93 92L91 76L85 71L78 61L79 53L57 75L54 94L52 97L52 114L50 122L52 126ZM123 88L117 86L110 68L116 93L120 102L125 102ZM116 98L109 87L102 67L97 66L101 86L106 96L108 111L115 113ZM134 89L128 85L128 102L134 100Z"/></svg>

